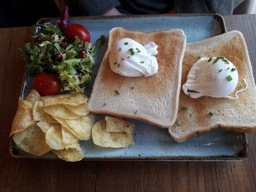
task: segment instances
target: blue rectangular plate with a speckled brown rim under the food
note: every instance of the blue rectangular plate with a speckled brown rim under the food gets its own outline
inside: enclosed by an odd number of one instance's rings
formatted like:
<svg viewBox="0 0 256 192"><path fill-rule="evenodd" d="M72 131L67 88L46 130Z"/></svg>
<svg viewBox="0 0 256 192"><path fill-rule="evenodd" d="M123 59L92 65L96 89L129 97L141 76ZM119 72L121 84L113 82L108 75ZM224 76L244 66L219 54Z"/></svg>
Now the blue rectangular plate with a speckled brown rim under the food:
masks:
<svg viewBox="0 0 256 192"><path fill-rule="evenodd" d="M39 22L55 22L54 19L42 19ZM225 33L223 18L218 14L182 14L182 15L132 15L121 17L71 17L71 23L83 24L92 35L92 43L100 35L106 36L106 42L96 54L95 74L108 45L108 33L111 28L123 27L141 31L156 31L168 28L183 29L187 42L195 42L211 36ZM31 90L31 77L24 77L21 97L26 97ZM92 88L93 81L90 86ZM87 91L90 95L91 88ZM103 118L97 115L96 119ZM215 129L200 134L184 143L172 140L168 129L159 129L136 120L133 132L135 145L127 148L102 148L94 145L92 140L81 141L84 160L124 159L124 160L163 160L163 161L221 161L241 160L247 156L246 134ZM14 157L57 159L51 152L42 157L35 157L20 150L11 143L10 152Z"/></svg>

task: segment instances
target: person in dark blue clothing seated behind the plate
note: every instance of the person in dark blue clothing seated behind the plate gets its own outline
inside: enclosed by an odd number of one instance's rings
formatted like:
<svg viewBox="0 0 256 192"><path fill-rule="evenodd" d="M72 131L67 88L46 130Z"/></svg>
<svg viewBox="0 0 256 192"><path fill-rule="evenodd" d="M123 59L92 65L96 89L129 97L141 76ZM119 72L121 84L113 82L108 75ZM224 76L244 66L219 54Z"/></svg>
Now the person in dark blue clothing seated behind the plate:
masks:
<svg viewBox="0 0 256 192"><path fill-rule="evenodd" d="M242 2L243 0L77 0L76 9L79 15L159 13L220 13L221 15L232 15L234 8Z"/></svg>

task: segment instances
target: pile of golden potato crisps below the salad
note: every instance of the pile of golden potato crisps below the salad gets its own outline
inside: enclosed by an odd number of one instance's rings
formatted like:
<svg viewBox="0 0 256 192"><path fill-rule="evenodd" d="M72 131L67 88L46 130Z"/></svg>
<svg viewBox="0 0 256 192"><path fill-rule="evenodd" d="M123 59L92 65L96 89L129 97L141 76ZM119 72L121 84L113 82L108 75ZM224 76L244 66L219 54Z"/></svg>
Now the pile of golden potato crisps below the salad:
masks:
<svg viewBox="0 0 256 192"><path fill-rule="evenodd" d="M31 90L26 99L19 98L19 108L13 118L13 141L35 156L52 151L65 161L80 161L84 152L80 140L92 138L100 147L133 145L132 122L106 116L95 123L83 93L67 93L40 97Z"/></svg>

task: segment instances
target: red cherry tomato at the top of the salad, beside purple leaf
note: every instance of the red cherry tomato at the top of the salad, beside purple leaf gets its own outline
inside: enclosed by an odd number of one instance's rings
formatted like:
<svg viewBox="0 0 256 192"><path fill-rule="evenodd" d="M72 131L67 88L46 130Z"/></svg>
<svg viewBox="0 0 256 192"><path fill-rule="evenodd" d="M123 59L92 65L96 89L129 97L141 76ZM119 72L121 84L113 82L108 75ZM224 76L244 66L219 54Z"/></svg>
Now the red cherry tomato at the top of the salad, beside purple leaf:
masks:
<svg viewBox="0 0 256 192"><path fill-rule="evenodd" d="M67 26L65 29L65 36L70 41L74 41L76 36L78 36L84 43L91 41L89 31L81 24L71 24Z"/></svg>

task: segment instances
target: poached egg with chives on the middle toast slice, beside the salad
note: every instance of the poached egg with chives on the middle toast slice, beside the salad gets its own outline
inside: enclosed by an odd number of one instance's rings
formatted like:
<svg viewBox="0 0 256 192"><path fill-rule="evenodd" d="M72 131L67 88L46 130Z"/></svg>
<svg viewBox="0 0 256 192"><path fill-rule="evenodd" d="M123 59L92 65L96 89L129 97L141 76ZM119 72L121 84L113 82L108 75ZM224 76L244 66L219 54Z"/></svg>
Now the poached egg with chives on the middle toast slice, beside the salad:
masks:
<svg viewBox="0 0 256 192"><path fill-rule="evenodd" d="M157 45L150 42L141 45L131 38L116 42L109 54L109 66L113 72L125 77L154 76L158 70Z"/></svg>

